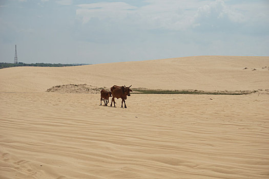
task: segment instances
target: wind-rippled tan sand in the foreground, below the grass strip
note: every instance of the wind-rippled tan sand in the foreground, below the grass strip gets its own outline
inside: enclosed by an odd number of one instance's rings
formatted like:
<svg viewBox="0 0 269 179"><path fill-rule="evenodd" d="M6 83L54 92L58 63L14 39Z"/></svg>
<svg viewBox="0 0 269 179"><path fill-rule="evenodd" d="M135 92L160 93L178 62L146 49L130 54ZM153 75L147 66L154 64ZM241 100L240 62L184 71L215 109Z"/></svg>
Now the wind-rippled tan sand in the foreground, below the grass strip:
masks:
<svg viewBox="0 0 269 179"><path fill-rule="evenodd" d="M211 100L211 99L212 100ZM268 178L268 95L0 94L1 178Z"/></svg>

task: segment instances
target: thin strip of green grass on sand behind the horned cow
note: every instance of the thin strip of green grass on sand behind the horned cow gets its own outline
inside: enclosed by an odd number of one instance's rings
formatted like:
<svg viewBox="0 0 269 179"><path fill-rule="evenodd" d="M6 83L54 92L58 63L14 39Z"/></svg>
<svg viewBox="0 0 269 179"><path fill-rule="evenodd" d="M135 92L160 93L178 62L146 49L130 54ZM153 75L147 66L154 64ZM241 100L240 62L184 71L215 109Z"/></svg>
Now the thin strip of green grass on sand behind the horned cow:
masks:
<svg viewBox="0 0 269 179"><path fill-rule="evenodd" d="M133 88L137 94L193 94L193 95L246 95L257 91L198 91L198 90L162 90Z"/></svg>

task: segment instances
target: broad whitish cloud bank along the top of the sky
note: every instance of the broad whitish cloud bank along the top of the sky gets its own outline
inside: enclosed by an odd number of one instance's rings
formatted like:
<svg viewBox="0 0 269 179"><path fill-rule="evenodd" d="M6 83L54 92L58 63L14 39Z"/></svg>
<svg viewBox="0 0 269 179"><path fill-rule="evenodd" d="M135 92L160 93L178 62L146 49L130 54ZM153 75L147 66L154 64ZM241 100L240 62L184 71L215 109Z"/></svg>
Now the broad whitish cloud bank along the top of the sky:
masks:
<svg viewBox="0 0 269 179"><path fill-rule="evenodd" d="M78 5L76 14L83 24L93 18L144 29L182 31L201 26L242 23L244 15L226 6L224 1L146 1L135 7L123 2ZM213 22L211 24L210 22Z"/></svg>

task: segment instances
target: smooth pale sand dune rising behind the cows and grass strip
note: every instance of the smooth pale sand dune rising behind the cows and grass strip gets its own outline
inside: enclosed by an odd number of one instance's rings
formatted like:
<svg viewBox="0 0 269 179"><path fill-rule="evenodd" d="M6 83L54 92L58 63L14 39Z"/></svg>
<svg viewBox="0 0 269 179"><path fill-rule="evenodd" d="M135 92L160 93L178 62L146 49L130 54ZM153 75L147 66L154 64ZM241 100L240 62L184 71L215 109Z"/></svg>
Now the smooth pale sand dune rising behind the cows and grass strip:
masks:
<svg viewBox="0 0 269 179"><path fill-rule="evenodd" d="M65 68L17 67L0 71L0 92L44 92L70 83L101 87L132 84L154 89L267 89L269 70L264 67L268 63L269 57L199 56Z"/></svg>

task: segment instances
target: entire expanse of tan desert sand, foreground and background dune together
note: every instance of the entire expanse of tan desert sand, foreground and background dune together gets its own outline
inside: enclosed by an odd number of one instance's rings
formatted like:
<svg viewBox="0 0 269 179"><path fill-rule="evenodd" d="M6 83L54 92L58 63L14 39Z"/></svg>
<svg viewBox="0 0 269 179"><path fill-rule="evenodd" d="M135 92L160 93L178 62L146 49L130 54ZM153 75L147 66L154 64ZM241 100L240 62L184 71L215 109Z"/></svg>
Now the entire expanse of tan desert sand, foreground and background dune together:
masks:
<svg viewBox="0 0 269 179"><path fill-rule="evenodd" d="M0 178L268 178L268 66L269 57L198 56L1 69ZM46 92L63 84L260 91L131 94L125 109Z"/></svg>

